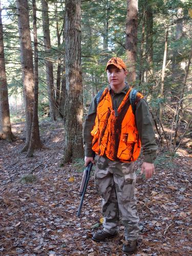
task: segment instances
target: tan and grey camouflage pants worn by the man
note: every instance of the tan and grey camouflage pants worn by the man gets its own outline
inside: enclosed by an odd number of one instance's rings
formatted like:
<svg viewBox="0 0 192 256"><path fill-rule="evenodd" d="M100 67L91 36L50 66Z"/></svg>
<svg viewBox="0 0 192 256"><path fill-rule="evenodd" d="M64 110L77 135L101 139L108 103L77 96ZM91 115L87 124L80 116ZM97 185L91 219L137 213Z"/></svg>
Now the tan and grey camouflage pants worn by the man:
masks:
<svg viewBox="0 0 192 256"><path fill-rule="evenodd" d="M109 233L124 225L124 239L136 240L139 217L135 198L135 162L122 163L96 156L95 186L102 197L103 227Z"/></svg>

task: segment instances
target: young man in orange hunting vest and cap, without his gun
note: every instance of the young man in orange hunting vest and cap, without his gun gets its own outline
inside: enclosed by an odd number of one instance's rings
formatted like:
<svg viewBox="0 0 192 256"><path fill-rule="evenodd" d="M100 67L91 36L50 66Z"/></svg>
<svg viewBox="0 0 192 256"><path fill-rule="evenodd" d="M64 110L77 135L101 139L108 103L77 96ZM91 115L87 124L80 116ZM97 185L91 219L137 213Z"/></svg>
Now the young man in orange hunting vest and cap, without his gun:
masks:
<svg viewBox="0 0 192 256"><path fill-rule="evenodd" d="M157 145L146 101L138 93L136 110L130 103L131 88L125 83L125 63L113 57L106 65L109 86L93 99L84 125L85 166L96 164L95 184L102 197L103 230L93 234L96 242L118 234L124 225L123 252L137 248L139 217L135 198L135 161L141 145L144 162L141 173L151 178Z"/></svg>

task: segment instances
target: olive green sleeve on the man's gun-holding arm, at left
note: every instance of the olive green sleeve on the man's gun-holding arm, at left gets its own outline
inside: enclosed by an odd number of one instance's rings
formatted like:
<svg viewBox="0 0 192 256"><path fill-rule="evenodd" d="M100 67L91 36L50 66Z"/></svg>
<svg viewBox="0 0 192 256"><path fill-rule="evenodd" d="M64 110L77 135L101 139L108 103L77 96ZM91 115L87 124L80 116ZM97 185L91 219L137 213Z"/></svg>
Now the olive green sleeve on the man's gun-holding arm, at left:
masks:
<svg viewBox="0 0 192 256"><path fill-rule="evenodd" d="M83 144L84 144L84 154L86 157L95 156L95 152L92 150L93 136L91 135L91 131L93 130L93 126L95 124L96 112L97 112L97 102L96 102L96 96L95 96L91 102L88 114L86 116L86 120L84 122Z"/></svg>

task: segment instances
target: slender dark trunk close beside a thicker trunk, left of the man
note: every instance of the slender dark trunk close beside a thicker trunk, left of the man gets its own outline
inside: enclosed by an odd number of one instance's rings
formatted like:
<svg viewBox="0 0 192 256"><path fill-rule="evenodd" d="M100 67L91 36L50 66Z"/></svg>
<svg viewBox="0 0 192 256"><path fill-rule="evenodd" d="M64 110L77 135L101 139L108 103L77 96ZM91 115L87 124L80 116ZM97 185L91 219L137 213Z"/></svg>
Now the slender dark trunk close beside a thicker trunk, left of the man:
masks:
<svg viewBox="0 0 192 256"><path fill-rule="evenodd" d="M38 49L37 49L37 22L36 22L36 3L33 3L33 40L34 40L34 103L33 103L33 121L32 121L32 131L29 143L29 150L27 157L33 156L33 151L35 148L41 148L42 143L40 141L39 135L39 121L38 121Z"/></svg>

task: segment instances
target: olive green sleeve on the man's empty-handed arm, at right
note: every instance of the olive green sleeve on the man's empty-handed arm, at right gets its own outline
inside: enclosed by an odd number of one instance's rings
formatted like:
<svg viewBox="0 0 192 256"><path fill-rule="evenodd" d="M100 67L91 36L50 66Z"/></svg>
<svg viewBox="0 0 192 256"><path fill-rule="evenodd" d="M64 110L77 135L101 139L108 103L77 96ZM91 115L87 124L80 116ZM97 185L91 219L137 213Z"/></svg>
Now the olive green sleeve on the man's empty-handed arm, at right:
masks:
<svg viewBox="0 0 192 256"><path fill-rule="evenodd" d="M154 163L157 144L153 130L152 116L145 99L140 99L137 103L135 117L141 146L143 148L144 162Z"/></svg>

